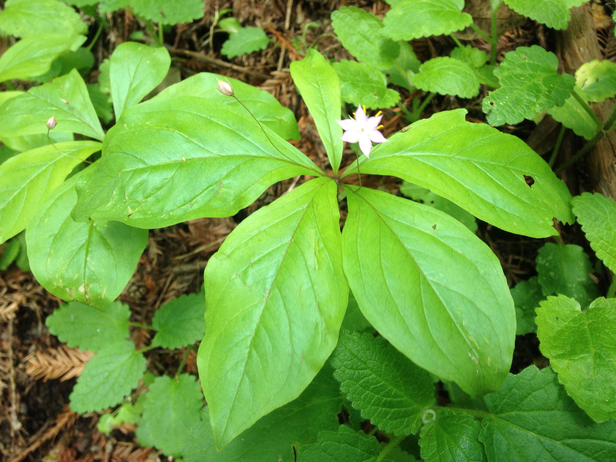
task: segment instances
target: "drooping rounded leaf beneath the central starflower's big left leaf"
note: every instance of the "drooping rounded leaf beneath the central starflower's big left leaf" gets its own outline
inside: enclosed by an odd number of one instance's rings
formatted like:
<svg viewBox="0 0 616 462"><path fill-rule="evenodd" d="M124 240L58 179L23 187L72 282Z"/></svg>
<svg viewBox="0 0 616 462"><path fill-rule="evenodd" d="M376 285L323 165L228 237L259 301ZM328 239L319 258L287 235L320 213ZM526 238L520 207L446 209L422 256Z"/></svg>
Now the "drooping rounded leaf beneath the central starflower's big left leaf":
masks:
<svg viewBox="0 0 616 462"><path fill-rule="evenodd" d="M92 169L71 177L41 202L26 241L32 272L44 288L64 300L105 310L134 273L148 232L117 221L71 219L75 182Z"/></svg>

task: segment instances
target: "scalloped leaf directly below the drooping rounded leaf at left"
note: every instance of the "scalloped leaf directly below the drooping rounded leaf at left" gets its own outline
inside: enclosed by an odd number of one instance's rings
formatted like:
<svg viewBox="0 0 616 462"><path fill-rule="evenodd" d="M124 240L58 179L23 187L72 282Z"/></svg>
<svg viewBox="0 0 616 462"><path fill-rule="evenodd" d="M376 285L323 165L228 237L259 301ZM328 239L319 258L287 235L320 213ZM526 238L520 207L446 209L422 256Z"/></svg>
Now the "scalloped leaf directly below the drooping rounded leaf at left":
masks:
<svg viewBox="0 0 616 462"><path fill-rule="evenodd" d="M120 301L111 302L103 312L80 302L70 302L47 316L45 324L69 347L95 353L108 344L128 339L130 317L130 307Z"/></svg>

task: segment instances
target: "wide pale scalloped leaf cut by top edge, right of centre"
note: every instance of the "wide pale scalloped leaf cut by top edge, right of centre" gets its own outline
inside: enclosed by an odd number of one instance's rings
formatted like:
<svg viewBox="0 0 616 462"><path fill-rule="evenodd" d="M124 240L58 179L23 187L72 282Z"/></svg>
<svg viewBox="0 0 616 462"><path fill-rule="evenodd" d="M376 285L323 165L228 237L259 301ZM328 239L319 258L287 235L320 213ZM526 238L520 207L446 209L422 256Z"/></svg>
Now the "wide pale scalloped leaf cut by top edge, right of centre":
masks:
<svg viewBox="0 0 616 462"><path fill-rule="evenodd" d="M463 13L464 0L402 0L383 18L383 34L394 40L412 40L450 34L472 23Z"/></svg>

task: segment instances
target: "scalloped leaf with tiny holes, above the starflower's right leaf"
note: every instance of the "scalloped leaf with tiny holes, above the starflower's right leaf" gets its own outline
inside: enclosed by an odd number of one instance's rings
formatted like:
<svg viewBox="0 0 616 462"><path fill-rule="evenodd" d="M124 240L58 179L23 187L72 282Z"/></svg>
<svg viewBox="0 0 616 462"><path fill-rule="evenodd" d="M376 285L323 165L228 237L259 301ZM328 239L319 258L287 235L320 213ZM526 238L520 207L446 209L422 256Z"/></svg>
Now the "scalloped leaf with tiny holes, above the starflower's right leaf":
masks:
<svg viewBox="0 0 616 462"><path fill-rule="evenodd" d="M569 74L559 75L557 68L556 55L537 45L508 52L494 71L501 88L482 102L488 123L517 124L543 109L564 105L575 79Z"/></svg>

